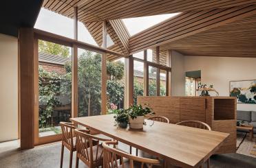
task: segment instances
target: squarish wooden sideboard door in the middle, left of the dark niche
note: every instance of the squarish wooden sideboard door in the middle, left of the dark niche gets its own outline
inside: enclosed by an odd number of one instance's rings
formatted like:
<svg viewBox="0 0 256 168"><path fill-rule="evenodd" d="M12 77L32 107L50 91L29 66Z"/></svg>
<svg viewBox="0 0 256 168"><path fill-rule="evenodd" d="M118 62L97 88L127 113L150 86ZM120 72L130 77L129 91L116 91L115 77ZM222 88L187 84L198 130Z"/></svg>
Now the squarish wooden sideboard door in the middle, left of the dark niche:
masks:
<svg viewBox="0 0 256 168"><path fill-rule="evenodd" d="M203 97L180 98L180 121L197 120L206 121L206 99Z"/></svg>

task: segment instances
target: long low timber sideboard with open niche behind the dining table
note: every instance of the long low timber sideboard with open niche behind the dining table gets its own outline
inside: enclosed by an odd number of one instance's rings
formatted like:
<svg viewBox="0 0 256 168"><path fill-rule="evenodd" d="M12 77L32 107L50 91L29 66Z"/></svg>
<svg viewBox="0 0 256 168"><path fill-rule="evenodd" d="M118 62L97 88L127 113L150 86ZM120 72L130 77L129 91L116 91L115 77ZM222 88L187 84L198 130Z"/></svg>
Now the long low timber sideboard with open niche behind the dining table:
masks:
<svg viewBox="0 0 256 168"><path fill-rule="evenodd" d="M156 115L167 117L171 123L203 121L214 131L231 134L217 154L236 151L236 102L235 97L138 97L138 104L147 104Z"/></svg>

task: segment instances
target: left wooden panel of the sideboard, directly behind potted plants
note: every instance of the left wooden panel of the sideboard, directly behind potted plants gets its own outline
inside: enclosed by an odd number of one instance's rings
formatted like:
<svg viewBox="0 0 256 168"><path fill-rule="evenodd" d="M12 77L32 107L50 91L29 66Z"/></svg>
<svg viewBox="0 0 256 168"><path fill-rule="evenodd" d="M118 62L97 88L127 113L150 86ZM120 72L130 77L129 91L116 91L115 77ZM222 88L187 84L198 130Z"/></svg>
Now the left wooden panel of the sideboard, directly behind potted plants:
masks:
<svg viewBox="0 0 256 168"><path fill-rule="evenodd" d="M171 123L180 122L179 97L138 97L138 104L147 104L156 115L167 117Z"/></svg>

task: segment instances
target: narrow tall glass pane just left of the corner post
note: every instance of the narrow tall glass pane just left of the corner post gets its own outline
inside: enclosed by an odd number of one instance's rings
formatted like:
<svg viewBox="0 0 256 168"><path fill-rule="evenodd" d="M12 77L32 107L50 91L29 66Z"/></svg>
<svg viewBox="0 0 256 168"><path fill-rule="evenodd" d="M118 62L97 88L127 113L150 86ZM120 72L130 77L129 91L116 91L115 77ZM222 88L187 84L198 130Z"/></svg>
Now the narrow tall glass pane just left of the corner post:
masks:
<svg viewBox="0 0 256 168"><path fill-rule="evenodd" d="M108 113L124 108L125 102L125 60L107 62L107 107Z"/></svg>

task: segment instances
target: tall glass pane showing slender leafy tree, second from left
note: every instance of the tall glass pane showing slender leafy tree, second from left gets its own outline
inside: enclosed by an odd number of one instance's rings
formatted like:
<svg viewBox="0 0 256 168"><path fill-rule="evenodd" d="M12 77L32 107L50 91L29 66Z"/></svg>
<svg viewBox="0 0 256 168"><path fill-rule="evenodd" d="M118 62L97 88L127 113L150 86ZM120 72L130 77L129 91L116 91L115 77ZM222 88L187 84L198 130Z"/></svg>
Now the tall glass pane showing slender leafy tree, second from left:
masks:
<svg viewBox="0 0 256 168"><path fill-rule="evenodd" d="M78 49L78 117L101 114L101 54Z"/></svg>

